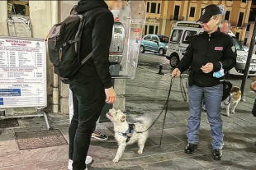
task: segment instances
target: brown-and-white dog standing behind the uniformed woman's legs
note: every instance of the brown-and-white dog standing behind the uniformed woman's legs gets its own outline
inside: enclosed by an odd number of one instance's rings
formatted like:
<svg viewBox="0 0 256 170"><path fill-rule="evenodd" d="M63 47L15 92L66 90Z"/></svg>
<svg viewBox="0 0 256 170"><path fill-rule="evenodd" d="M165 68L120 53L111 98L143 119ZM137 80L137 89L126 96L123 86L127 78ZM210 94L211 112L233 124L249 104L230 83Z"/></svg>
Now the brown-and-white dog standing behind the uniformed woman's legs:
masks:
<svg viewBox="0 0 256 170"><path fill-rule="evenodd" d="M225 110L225 116L230 116L230 105L231 105L231 113L235 114L235 108L237 104L239 103L241 99L241 90L239 89L238 86L233 86L232 89L230 90L230 97L225 99L223 102L221 102L221 108L225 108L226 105L226 110ZM228 104L225 104L228 103Z"/></svg>

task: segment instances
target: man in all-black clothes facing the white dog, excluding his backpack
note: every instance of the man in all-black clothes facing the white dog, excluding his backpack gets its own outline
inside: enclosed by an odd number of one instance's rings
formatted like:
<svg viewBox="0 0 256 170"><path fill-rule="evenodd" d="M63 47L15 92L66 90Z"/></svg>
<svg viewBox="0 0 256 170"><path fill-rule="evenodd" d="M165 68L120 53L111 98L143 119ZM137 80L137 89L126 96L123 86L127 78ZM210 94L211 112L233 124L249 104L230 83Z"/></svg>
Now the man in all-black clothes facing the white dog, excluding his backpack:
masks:
<svg viewBox="0 0 256 170"><path fill-rule="evenodd" d="M73 118L69 126L69 159L73 163L69 169L84 170L88 169L85 159L104 103L116 101L108 62L114 18L103 0L80 0L74 11L88 13L80 57L83 59L92 53L78 72L69 77L69 88L73 92Z"/></svg>

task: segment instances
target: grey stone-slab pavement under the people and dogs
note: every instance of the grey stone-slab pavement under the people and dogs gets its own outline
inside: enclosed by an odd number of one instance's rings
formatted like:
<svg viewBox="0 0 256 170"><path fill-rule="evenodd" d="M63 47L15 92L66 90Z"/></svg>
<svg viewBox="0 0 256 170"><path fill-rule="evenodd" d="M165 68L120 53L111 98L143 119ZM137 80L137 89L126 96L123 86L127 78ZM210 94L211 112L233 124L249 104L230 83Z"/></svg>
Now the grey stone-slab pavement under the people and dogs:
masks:
<svg viewBox="0 0 256 170"><path fill-rule="evenodd" d="M164 63L164 73L166 73L164 76L156 74L159 63ZM126 114L129 122L134 122L135 117L151 117L154 121L159 116L167 99L170 83L169 69L165 57L140 55L135 79L126 81ZM183 77L185 85L186 76ZM231 81L234 85L240 85L241 78ZM211 159L211 131L204 112L201 113L198 149L194 154L184 153L183 148L187 144L189 109L188 103L183 101L180 81L177 78L174 80L168 103L161 147L159 143L164 113L149 130L149 138L143 154L136 153L138 151L136 144L129 145L120 162L112 163L111 160L114 159L117 149L113 137L113 126L111 122L102 122L98 130L107 134L109 140L92 140L89 155L92 156L93 162L88 165L88 169L256 169L256 148L254 147L256 117L250 113L255 94L250 92L248 86L244 92L246 102L239 103L235 115L222 117L225 132L222 160ZM225 112L225 109L222 112ZM43 117L18 119L19 126L1 129L0 170L67 169L69 115L49 113L48 117L53 130L50 132L52 136L45 136L45 132L41 132L46 130ZM28 131L28 134L24 135L23 131ZM33 131L38 131L35 133L37 138L28 137L33 136ZM64 137L64 140L61 137ZM40 143L42 139L46 141L45 144ZM22 142L23 145L21 145ZM44 145L47 147L40 148ZM22 147L36 149L22 149Z"/></svg>

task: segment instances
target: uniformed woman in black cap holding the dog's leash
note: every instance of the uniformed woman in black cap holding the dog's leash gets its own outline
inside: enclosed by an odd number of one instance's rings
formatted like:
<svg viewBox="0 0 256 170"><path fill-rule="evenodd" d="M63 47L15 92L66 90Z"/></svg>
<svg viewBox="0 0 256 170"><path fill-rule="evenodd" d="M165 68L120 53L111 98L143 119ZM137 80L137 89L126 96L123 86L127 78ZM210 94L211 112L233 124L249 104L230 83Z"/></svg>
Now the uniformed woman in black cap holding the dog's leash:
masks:
<svg viewBox="0 0 256 170"><path fill-rule="evenodd" d="M205 98L206 113L211 127L213 159L221 159L223 142L220 103L223 95L224 70L235 67L236 49L230 36L220 32L221 7L206 6L197 22L204 32L193 37L182 60L173 70L172 77L178 77L190 67L188 99L190 115L187 119L187 142L185 153L192 154L199 142L202 99Z"/></svg>

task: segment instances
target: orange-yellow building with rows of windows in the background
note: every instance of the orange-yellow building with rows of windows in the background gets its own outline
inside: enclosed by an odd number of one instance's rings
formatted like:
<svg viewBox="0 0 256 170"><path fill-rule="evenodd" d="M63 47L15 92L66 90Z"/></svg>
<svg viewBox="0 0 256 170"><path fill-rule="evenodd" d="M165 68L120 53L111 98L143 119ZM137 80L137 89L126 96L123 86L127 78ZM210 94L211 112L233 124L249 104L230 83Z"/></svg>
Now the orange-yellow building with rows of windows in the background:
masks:
<svg viewBox="0 0 256 170"><path fill-rule="evenodd" d="M204 7L209 4L216 4L225 7L225 16L222 16L221 19L230 21L230 30L243 43L251 3L251 0L145 1L147 6L145 34L164 34L169 36L172 27L177 21L197 21Z"/></svg>

